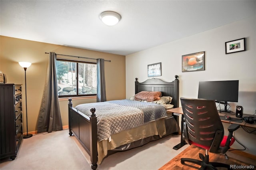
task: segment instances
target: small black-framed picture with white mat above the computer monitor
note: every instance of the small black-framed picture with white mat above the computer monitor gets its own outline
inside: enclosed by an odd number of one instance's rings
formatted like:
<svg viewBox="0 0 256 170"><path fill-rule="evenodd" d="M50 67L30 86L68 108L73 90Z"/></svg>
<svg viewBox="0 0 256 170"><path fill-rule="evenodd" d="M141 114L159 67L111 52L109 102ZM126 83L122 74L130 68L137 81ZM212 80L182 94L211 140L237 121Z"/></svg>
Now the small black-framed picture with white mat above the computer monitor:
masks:
<svg viewBox="0 0 256 170"><path fill-rule="evenodd" d="M245 51L245 38L225 42L226 54Z"/></svg>

